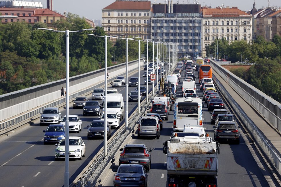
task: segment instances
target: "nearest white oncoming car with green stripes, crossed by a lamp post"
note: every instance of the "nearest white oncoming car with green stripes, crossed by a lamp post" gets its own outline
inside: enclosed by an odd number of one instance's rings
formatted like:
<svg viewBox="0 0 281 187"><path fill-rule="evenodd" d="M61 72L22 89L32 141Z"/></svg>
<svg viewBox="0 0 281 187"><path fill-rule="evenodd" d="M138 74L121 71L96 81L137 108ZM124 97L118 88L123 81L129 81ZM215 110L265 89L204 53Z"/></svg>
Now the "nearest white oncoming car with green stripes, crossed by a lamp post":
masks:
<svg viewBox="0 0 281 187"><path fill-rule="evenodd" d="M63 137L59 143L56 143L55 146L55 160L59 158L65 158L65 148L66 148L66 137ZM79 160L82 157L85 157L86 146L81 137L71 136L69 137L69 158L78 158Z"/></svg>

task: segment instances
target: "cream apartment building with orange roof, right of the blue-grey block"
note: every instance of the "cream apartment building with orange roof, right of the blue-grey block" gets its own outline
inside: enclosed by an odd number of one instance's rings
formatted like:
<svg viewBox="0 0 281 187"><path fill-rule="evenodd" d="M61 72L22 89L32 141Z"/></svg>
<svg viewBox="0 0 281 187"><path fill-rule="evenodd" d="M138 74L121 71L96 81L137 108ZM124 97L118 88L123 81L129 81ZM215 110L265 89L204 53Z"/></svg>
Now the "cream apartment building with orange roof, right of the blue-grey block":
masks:
<svg viewBox="0 0 281 187"><path fill-rule="evenodd" d="M203 57L215 39L252 40L252 15L237 7L203 7Z"/></svg>

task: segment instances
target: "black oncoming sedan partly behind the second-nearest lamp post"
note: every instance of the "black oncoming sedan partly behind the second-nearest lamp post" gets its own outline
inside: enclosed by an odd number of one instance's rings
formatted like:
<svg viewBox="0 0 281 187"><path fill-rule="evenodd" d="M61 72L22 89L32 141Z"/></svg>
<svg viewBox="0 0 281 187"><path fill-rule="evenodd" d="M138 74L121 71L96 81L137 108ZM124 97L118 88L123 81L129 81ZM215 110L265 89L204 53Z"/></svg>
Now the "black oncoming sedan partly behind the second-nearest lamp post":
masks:
<svg viewBox="0 0 281 187"><path fill-rule="evenodd" d="M91 125L87 125L87 138L104 137L104 120L93 120ZM107 122L107 139L111 137L111 126Z"/></svg>

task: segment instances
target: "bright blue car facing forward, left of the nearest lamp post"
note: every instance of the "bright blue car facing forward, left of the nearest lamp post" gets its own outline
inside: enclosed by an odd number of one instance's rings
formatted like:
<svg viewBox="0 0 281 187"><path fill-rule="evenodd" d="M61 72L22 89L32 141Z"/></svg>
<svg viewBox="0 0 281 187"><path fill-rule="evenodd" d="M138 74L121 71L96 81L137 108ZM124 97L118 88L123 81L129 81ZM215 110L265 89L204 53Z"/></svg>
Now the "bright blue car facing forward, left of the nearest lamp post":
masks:
<svg viewBox="0 0 281 187"><path fill-rule="evenodd" d="M44 135L44 144L47 143L58 143L63 137L66 136L64 125L55 124L49 125L47 130L43 130Z"/></svg>

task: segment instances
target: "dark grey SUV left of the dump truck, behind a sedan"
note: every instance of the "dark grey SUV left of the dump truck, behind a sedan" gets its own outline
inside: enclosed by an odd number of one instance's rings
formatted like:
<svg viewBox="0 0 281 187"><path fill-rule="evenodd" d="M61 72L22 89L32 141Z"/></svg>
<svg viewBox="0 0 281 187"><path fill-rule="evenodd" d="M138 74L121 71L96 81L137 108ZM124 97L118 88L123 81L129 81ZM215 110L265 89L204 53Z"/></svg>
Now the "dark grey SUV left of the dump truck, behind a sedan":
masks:
<svg viewBox="0 0 281 187"><path fill-rule="evenodd" d="M141 164L146 171L150 170L151 166L151 149L147 149L145 144L126 144L124 149L119 149L121 152L119 165L121 164Z"/></svg>

